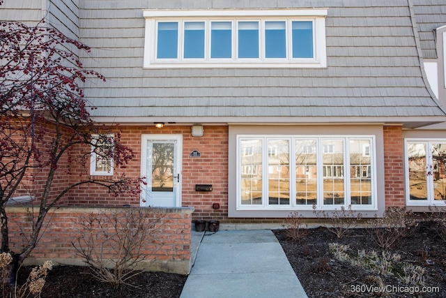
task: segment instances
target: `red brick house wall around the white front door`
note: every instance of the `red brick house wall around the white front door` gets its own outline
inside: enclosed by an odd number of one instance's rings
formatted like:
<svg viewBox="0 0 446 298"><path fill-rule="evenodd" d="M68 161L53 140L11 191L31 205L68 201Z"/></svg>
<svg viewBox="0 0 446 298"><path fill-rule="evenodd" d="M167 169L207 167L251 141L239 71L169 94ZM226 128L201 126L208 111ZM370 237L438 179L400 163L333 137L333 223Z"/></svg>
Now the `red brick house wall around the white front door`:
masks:
<svg viewBox="0 0 446 298"><path fill-rule="evenodd" d="M182 204L193 206L194 219L223 219L228 214L228 127L206 126L202 137L192 137L190 126L119 126L123 144L133 149L134 158L125 168L114 170L114 177L125 173L127 177L141 176L141 135L180 134L183 135L183 175ZM109 131L118 132L117 128ZM201 157L190 157L194 150ZM83 165L71 165L72 183L85 178ZM105 177L106 178L106 177ZM212 184L213 191L197 192L195 184ZM84 185L70 191L70 206L139 206L139 198L130 195L114 195L101 186ZM213 209L213 203L219 203L220 209Z"/></svg>

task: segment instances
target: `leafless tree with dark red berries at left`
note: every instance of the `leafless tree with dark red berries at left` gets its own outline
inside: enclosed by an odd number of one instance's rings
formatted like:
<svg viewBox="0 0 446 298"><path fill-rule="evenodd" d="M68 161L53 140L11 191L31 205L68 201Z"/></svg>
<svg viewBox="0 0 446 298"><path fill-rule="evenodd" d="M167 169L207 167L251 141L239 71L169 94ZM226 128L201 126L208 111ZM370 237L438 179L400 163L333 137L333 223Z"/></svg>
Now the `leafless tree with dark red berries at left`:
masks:
<svg viewBox="0 0 446 298"><path fill-rule="evenodd" d="M94 107L84 98L82 82L105 77L82 68L69 49L90 51L44 21L35 27L0 23L1 252L11 253L16 266L36 246L49 209L73 188L98 184L114 194L139 195L141 179L124 174L109 179L84 174L63 189L52 187L55 177L67 175L73 161L86 167L91 148L101 158L112 158L115 168L125 167L134 156L119 133L111 138L91 119L89 108ZM38 184L27 191L40 208L27 243L21 251L12 252L5 207L26 184Z"/></svg>

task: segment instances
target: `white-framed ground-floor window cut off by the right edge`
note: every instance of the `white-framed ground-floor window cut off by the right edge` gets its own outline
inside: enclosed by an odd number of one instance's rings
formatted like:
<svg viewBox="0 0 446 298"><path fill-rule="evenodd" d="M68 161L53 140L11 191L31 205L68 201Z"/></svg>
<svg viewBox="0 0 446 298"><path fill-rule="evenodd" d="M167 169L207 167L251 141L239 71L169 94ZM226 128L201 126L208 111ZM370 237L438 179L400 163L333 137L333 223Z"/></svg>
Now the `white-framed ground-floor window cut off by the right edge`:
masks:
<svg viewBox="0 0 446 298"><path fill-rule="evenodd" d="M408 206L444 206L446 139L406 139L405 148Z"/></svg>

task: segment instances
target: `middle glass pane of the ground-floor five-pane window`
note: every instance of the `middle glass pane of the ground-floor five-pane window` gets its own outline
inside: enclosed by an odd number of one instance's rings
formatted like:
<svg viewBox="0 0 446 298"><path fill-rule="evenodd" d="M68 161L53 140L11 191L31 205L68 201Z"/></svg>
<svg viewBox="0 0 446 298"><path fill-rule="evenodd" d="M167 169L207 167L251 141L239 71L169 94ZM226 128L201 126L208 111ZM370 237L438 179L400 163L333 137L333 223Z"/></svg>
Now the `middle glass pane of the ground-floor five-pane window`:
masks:
<svg viewBox="0 0 446 298"><path fill-rule="evenodd" d="M316 140L295 141L296 204L316 204Z"/></svg>

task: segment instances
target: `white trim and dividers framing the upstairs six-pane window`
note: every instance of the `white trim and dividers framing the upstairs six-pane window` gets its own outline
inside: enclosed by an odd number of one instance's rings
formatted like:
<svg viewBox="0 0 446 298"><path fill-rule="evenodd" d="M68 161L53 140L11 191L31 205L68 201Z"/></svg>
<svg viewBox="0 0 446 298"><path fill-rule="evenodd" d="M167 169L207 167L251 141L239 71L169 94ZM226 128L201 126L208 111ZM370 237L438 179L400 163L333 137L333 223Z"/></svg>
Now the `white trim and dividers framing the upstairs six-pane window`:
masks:
<svg viewBox="0 0 446 298"><path fill-rule="evenodd" d="M325 44L325 17L327 8L318 9L272 9L272 10L144 10L146 33L144 40L144 68L325 68L327 53ZM181 49L183 40L183 24L185 21L222 22L232 21L233 53L231 59L209 59L205 52L204 59L156 59L157 22L178 22L178 56L183 57ZM260 40L260 59L235 59L236 23L240 20L260 20L259 31L263 38L262 28L265 20L312 20L314 30L314 59L272 59L264 56L264 43ZM289 28L287 29L289 31ZM288 33L290 34L290 33ZM291 48L287 38L287 50ZM210 40L210 30L205 31L205 44Z"/></svg>

